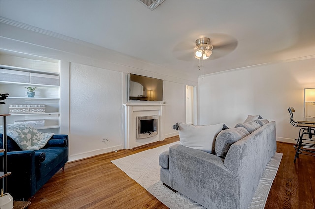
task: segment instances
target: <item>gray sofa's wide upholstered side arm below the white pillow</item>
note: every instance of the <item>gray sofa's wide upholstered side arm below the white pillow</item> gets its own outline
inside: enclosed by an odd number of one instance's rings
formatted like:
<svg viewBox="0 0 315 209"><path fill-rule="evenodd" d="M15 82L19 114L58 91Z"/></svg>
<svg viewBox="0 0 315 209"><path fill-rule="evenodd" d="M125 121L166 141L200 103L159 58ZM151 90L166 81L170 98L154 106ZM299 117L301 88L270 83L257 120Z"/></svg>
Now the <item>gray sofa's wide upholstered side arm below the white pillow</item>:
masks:
<svg viewBox="0 0 315 209"><path fill-rule="evenodd" d="M173 145L169 148L170 186L204 206L238 209L239 178L216 155ZM228 200L227 200L228 197Z"/></svg>

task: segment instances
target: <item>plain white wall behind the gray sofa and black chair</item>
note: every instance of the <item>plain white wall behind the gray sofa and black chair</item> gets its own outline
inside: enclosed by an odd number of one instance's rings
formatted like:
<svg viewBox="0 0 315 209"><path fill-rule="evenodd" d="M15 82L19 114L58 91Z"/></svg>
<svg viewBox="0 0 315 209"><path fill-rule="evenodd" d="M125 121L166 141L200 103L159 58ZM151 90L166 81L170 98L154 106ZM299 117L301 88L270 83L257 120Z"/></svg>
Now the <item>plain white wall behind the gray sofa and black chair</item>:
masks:
<svg viewBox="0 0 315 209"><path fill-rule="evenodd" d="M234 127L247 115L260 114L276 121L277 140L293 142L298 128L289 123L303 120L304 88L315 87L315 58L248 67L209 74L199 79L199 124L225 123Z"/></svg>

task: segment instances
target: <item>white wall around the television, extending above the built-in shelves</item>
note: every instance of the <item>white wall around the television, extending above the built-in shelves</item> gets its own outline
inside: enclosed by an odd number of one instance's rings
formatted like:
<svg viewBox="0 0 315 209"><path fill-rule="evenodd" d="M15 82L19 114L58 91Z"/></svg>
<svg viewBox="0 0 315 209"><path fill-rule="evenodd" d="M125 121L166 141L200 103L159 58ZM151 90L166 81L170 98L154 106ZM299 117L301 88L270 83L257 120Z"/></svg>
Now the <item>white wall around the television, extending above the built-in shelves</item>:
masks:
<svg viewBox="0 0 315 209"><path fill-rule="evenodd" d="M164 80L165 137L178 134L172 125L185 121L185 86L197 85L191 78L180 78L170 69L88 43L34 32L28 27L1 22L0 28L1 49L60 60L60 130L62 134L69 134L70 161L122 146L122 104L126 102L127 73ZM70 65L76 67L70 68ZM90 87L93 96L84 94L82 97L82 90ZM98 96L101 98L96 99ZM108 98L112 96L111 103ZM95 114L98 110L101 112ZM106 117L114 118L113 123L102 120ZM102 137L108 137L110 142L101 142Z"/></svg>

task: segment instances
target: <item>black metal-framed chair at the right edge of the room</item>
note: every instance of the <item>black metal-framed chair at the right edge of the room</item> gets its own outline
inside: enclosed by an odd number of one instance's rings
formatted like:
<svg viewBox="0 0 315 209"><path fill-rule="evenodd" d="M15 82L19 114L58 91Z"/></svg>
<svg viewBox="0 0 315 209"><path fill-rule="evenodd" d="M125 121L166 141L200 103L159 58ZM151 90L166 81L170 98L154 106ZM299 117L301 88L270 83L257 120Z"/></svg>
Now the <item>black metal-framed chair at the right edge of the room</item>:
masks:
<svg viewBox="0 0 315 209"><path fill-rule="evenodd" d="M294 145L296 153L295 153L295 158L294 158L294 163L296 161L296 158L299 157L299 154L302 154L302 151L310 152L310 153L315 153L315 151L308 150L308 149L302 149L303 148L315 148L314 143L308 143L308 142L303 142L304 141L314 141L312 140L312 137L315 136L315 122L312 121L294 121L293 120L293 112L295 112L293 107L289 107L287 109L290 113L290 123L291 125L295 127L300 127L299 131L299 138L297 139L296 144ZM307 134L309 139L303 139L303 136ZM315 156L315 155L311 155Z"/></svg>

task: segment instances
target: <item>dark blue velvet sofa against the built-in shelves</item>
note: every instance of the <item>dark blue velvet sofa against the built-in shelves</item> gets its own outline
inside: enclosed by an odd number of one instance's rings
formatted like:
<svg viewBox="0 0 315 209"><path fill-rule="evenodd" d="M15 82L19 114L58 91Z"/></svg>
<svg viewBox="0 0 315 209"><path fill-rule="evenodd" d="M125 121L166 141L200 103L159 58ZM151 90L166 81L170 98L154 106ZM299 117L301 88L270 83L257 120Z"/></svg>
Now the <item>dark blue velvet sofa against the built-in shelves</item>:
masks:
<svg viewBox="0 0 315 209"><path fill-rule="evenodd" d="M0 134L0 149L3 149ZM32 197L68 161L68 135L53 135L45 147L37 151L22 150L7 137L8 193L14 199ZM1 162L3 153L0 153Z"/></svg>

